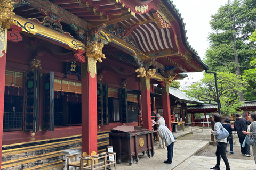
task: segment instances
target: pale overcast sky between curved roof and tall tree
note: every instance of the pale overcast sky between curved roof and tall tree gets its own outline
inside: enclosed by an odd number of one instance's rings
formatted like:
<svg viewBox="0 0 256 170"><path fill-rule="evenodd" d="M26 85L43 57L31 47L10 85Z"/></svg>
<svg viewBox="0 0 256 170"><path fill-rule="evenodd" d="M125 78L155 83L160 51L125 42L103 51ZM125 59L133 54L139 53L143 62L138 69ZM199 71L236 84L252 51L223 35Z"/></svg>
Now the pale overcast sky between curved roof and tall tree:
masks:
<svg viewBox="0 0 256 170"><path fill-rule="evenodd" d="M211 15L215 14L221 5L227 0L173 0L173 4L184 18L189 44L197 51L201 59L205 57L206 49L209 47L207 37L211 32L209 22ZM196 77L202 78L203 72L193 73ZM190 74L188 74L190 75Z"/></svg>

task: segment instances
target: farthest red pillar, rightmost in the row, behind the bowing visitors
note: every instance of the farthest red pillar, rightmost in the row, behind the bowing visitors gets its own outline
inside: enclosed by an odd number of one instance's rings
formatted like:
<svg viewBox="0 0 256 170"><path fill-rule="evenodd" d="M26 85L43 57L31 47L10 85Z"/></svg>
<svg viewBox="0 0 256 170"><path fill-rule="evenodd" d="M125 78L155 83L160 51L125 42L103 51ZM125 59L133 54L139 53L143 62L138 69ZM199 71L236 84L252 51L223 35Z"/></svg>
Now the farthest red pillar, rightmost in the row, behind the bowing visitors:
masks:
<svg viewBox="0 0 256 170"><path fill-rule="evenodd" d="M172 131L171 123L171 110L170 110L170 98L169 98L169 83L165 82L162 87L162 104L165 124Z"/></svg>

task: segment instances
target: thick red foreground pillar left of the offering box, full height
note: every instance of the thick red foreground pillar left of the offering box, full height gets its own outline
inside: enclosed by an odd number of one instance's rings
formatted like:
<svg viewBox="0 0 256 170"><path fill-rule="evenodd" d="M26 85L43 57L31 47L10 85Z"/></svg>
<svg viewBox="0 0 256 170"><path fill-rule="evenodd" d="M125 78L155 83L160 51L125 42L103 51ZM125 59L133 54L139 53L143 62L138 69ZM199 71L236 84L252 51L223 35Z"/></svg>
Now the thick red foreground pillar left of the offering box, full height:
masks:
<svg viewBox="0 0 256 170"><path fill-rule="evenodd" d="M81 64L82 82L82 155L97 154L97 75L93 57Z"/></svg>

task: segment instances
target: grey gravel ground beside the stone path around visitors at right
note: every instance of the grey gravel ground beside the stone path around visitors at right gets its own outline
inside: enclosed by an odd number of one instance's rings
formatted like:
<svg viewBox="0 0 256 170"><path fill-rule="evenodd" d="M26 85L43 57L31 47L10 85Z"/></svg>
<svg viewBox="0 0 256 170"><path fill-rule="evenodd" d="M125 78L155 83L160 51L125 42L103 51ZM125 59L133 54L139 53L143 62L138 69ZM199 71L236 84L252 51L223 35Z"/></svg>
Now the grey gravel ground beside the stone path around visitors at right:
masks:
<svg viewBox="0 0 256 170"><path fill-rule="evenodd" d="M191 131L190 128L186 128L186 131ZM211 128L193 128L192 129L193 134L187 134L184 137L180 137L178 139L180 140L206 140L206 141L211 141ZM175 133L174 133L175 134ZM241 154L241 148L240 148L240 143L239 139L237 136L234 136L235 144L233 146L233 152L235 154L230 155L227 153L227 158L232 158L232 159L245 159L245 160L254 160L253 156L252 157L247 157L243 156ZM216 151L217 146L209 145L202 151L198 152L196 155L197 156L210 156L210 157L215 157L215 151ZM227 146L227 150L229 151L229 145ZM252 147L251 147L251 155L252 154Z"/></svg>

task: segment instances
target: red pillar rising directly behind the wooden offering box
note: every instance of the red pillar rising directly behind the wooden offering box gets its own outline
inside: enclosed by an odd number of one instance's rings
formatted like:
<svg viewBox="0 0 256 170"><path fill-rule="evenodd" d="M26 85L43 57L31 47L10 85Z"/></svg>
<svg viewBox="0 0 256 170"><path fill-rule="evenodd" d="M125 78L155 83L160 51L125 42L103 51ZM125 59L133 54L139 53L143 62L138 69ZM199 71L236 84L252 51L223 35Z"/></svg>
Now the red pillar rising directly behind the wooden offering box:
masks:
<svg viewBox="0 0 256 170"><path fill-rule="evenodd" d="M143 128L152 130L150 105L150 78L140 78Z"/></svg>

